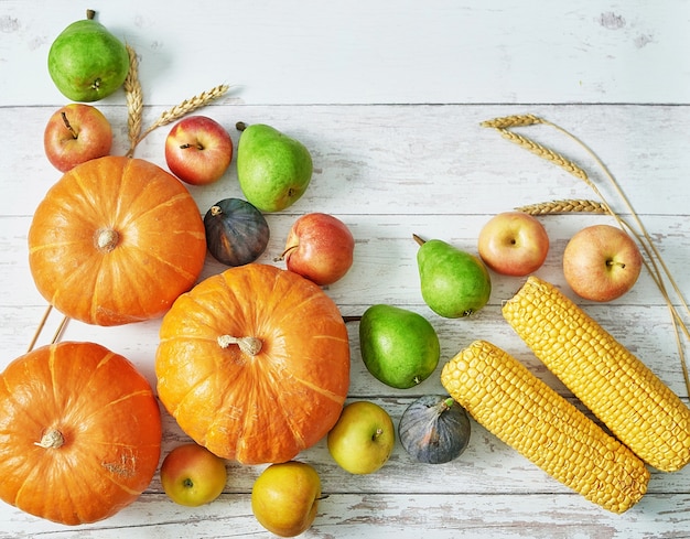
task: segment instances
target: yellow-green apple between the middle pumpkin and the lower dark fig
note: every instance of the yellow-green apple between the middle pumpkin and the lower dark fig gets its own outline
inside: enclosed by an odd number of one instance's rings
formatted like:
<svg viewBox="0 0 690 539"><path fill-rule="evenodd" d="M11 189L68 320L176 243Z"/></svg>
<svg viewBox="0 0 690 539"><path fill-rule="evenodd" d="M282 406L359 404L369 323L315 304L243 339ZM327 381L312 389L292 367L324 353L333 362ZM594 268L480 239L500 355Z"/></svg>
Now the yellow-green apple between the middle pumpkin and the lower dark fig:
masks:
<svg viewBox="0 0 690 539"><path fill-rule="evenodd" d="M366 400L343 408L327 435L333 460L352 474L370 474L379 470L396 444L390 416L380 406Z"/></svg>

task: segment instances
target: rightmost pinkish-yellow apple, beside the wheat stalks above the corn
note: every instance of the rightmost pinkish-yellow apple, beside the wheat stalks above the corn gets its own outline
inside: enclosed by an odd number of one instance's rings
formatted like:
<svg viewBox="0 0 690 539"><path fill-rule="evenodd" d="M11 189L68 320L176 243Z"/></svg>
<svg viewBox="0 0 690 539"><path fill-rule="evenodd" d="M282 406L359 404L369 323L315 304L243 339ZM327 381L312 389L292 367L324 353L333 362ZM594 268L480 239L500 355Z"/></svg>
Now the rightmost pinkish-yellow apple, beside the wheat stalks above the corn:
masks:
<svg viewBox="0 0 690 539"><path fill-rule="evenodd" d="M633 288L643 257L635 240L611 225L593 225L578 231L563 251L563 273L581 298L611 301Z"/></svg>

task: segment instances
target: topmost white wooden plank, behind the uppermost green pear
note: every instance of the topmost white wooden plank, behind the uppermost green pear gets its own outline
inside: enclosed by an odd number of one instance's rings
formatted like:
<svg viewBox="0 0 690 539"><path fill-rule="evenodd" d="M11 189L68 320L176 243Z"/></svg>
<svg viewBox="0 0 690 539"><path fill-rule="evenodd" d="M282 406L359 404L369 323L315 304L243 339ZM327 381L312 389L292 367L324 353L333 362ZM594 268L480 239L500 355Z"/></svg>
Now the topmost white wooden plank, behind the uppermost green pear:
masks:
<svg viewBox="0 0 690 539"><path fill-rule="evenodd" d="M1 3L3 103L62 104L47 51L93 6ZM689 61L678 54L690 47L683 0L402 0L395 9L385 0L241 0L193 10L181 0L161 9L121 0L96 9L142 56L144 91L157 104L222 83L252 105L690 103ZM28 73L31 84L17 84Z"/></svg>

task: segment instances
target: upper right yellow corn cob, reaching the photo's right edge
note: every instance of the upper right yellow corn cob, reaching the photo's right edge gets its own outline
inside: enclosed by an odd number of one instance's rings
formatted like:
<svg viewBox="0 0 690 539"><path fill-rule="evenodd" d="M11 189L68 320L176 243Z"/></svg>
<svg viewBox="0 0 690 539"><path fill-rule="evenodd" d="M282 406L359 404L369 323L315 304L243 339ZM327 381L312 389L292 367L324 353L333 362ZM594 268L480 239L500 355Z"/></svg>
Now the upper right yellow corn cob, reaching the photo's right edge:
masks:
<svg viewBox="0 0 690 539"><path fill-rule="evenodd" d="M612 335L552 284L530 277L503 306L539 359L647 464L690 461L690 409Z"/></svg>

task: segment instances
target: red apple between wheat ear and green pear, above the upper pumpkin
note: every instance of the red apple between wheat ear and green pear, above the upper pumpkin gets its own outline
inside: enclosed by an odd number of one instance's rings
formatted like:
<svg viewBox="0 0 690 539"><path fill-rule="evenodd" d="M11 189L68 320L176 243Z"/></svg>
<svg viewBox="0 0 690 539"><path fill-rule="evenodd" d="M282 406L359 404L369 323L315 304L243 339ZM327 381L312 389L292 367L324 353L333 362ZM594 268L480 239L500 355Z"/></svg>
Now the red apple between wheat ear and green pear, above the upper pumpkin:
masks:
<svg viewBox="0 0 690 539"><path fill-rule="evenodd" d="M168 168L192 185L219 180L231 160L233 139L220 123L206 116L183 118L165 139Z"/></svg>

